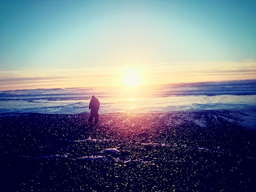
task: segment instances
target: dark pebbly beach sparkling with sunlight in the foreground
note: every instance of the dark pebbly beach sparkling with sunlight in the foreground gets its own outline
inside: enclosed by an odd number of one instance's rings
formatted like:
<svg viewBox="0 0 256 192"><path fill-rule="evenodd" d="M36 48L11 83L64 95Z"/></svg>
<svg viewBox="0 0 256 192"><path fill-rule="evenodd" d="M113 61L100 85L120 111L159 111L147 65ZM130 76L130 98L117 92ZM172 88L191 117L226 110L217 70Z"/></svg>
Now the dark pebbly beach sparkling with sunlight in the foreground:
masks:
<svg viewBox="0 0 256 192"><path fill-rule="evenodd" d="M0 191L254 191L251 114L6 114Z"/></svg>

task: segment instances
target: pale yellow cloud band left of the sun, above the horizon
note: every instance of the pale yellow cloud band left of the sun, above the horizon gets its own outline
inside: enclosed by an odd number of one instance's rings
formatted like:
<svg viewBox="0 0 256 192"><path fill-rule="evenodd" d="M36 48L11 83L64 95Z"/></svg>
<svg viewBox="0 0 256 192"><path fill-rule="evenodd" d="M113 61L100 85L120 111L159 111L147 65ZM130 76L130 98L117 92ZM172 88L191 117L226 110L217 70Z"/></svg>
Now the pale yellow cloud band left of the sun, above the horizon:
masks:
<svg viewBox="0 0 256 192"><path fill-rule="evenodd" d="M0 90L106 86L118 76L115 67L0 71Z"/></svg>

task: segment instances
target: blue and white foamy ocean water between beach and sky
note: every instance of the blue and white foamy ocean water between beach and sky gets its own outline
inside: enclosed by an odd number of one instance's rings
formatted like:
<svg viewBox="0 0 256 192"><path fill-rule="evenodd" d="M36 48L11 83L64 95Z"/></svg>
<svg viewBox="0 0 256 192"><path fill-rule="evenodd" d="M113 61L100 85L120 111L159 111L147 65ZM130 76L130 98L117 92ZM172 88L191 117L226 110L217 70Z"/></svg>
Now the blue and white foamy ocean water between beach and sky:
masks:
<svg viewBox="0 0 256 192"><path fill-rule="evenodd" d="M1 91L0 113L90 113L92 95L100 114L256 109L256 80Z"/></svg>

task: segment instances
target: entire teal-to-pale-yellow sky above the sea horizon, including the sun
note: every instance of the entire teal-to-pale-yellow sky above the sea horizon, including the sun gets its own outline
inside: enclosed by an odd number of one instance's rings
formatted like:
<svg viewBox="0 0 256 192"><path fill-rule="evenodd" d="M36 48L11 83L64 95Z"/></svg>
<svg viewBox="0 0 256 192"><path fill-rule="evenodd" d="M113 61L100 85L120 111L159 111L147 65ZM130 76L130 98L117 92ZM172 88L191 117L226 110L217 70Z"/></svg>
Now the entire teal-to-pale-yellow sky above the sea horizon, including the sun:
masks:
<svg viewBox="0 0 256 192"><path fill-rule="evenodd" d="M0 0L0 90L256 79L255 0Z"/></svg>

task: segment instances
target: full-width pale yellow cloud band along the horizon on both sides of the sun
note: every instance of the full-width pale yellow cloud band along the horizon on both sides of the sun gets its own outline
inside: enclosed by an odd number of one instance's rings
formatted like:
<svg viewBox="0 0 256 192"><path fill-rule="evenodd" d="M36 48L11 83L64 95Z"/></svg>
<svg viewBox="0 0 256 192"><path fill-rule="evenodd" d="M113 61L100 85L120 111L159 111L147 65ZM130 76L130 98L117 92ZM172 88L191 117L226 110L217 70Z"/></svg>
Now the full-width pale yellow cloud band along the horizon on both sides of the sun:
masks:
<svg viewBox="0 0 256 192"><path fill-rule="evenodd" d="M138 69L143 84L256 78L256 61L157 63L120 67L0 71L0 90L121 85L128 68Z"/></svg>

